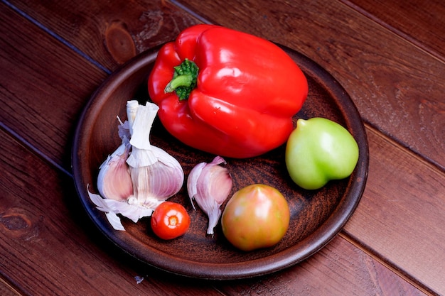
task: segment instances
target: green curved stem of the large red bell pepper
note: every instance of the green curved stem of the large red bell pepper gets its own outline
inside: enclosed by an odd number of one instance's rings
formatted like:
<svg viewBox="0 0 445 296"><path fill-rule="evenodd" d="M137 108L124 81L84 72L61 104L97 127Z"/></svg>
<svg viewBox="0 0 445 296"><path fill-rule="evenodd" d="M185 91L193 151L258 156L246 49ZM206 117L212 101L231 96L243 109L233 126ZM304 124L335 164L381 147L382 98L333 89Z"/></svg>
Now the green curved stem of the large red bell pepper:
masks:
<svg viewBox="0 0 445 296"><path fill-rule="evenodd" d="M180 101L188 99L196 87L199 68L195 62L186 59L181 65L174 67L174 70L173 79L168 82L164 92L176 92Z"/></svg>

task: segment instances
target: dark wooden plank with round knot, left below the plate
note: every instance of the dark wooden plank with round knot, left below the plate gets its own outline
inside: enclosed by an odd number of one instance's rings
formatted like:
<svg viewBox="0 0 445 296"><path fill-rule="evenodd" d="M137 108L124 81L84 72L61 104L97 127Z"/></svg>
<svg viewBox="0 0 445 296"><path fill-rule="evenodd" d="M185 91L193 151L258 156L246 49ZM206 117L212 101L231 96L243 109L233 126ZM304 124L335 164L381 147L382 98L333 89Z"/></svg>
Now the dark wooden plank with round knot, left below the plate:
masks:
<svg viewBox="0 0 445 296"><path fill-rule="evenodd" d="M73 180L0 130L0 277L26 295L220 295L144 268L105 241ZM144 277L136 283L136 276ZM3 294L2 294L3 295Z"/></svg>

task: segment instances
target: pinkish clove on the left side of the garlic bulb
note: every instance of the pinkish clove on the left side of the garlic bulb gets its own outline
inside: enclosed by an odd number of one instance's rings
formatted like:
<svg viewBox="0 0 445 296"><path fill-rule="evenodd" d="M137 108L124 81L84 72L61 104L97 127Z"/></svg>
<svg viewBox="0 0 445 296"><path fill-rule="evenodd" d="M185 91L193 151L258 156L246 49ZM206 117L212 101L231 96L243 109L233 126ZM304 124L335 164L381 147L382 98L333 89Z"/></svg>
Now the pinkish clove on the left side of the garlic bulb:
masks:
<svg viewBox="0 0 445 296"><path fill-rule="evenodd" d="M133 194L132 178L126 163L129 149L129 144L122 143L100 165L99 175L97 176L97 190L102 197L124 201Z"/></svg>

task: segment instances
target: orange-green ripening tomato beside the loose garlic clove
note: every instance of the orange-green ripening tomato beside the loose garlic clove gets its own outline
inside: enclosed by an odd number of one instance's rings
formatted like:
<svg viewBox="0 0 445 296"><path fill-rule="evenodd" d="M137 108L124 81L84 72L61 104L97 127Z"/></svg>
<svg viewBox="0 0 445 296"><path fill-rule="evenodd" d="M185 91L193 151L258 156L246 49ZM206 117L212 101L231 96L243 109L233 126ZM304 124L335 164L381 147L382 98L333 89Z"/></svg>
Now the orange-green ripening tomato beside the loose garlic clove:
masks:
<svg viewBox="0 0 445 296"><path fill-rule="evenodd" d="M289 228L290 210L274 187L253 184L235 192L221 216L223 234L242 251L277 244Z"/></svg>

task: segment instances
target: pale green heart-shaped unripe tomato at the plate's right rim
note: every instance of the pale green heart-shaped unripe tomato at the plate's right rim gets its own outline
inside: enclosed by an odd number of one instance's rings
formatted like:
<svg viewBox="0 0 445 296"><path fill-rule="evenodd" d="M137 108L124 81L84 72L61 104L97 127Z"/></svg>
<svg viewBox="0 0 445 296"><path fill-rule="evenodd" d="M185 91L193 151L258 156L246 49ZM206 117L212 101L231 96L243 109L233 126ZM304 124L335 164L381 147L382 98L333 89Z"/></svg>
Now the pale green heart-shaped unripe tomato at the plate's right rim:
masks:
<svg viewBox="0 0 445 296"><path fill-rule="evenodd" d="M289 175L306 190L348 177L357 163L357 142L346 128L329 119L299 119L286 144Z"/></svg>

